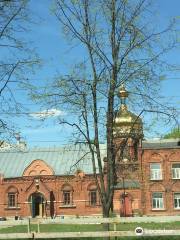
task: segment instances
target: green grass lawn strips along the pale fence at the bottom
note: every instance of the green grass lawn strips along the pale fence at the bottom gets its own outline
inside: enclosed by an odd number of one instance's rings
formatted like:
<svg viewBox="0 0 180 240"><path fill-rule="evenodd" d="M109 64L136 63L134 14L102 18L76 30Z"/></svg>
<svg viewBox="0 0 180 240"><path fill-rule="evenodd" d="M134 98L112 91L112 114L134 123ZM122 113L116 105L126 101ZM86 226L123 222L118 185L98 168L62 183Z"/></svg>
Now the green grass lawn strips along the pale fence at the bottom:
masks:
<svg viewBox="0 0 180 240"><path fill-rule="evenodd" d="M121 223L117 225L118 231L134 231L137 226L146 229L180 229L180 222L170 222L170 223ZM111 230L113 230L113 225L110 225ZM37 225L31 225L31 231L37 231ZM102 224L89 224L89 225L67 225L67 224L41 224L40 232L85 232L85 231L103 231ZM27 225L17 225L13 227L7 227L0 229L1 233L27 233ZM74 238L78 240L80 238ZM85 238L81 238L85 240ZM86 238L91 240L101 240L102 238ZM115 239L115 238L111 238ZM158 237L118 237L118 240L138 240L138 239L152 239L152 240L179 240L180 236L158 236ZM17 239L16 239L17 240ZM45 240L45 239L44 239ZM57 240L57 239L56 239ZM71 238L72 240L72 238Z"/></svg>

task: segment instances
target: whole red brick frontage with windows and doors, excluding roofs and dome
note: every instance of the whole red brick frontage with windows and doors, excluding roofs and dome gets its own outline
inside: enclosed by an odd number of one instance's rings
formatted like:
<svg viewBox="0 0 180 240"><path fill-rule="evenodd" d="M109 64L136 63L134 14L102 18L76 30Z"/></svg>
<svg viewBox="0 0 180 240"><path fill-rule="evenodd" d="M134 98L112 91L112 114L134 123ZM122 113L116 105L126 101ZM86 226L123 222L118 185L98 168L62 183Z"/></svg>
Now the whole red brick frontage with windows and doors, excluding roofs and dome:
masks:
<svg viewBox="0 0 180 240"><path fill-rule="evenodd" d="M180 148L139 146L137 162L118 163L113 209L117 215L180 214ZM124 165L124 166L123 166ZM126 167L125 167L126 165ZM123 169L123 170L122 170ZM43 160L34 160L22 177L0 176L0 216L101 214L91 174L56 176Z"/></svg>

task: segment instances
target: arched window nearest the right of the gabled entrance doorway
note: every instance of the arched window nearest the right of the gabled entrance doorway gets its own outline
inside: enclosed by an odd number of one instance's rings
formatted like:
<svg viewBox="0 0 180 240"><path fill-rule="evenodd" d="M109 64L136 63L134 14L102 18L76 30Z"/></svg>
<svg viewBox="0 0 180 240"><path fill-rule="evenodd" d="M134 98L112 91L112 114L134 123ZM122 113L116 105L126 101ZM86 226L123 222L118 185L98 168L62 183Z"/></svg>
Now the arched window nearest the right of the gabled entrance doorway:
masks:
<svg viewBox="0 0 180 240"><path fill-rule="evenodd" d="M62 204L65 206L73 205L73 188L69 184L64 184L61 188Z"/></svg>

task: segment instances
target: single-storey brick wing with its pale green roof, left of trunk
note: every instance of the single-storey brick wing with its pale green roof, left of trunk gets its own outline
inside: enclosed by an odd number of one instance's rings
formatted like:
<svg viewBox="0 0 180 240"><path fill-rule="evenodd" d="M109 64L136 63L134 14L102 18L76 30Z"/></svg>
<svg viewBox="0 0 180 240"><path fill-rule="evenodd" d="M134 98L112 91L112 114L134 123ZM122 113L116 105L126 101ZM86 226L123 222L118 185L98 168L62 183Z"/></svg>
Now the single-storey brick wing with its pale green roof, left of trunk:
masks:
<svg viewBox="0 0 180 240"><path fill-rule="evenodd" d="M87 152L85 144L2 150L0 216L101 214Z"/></svg>

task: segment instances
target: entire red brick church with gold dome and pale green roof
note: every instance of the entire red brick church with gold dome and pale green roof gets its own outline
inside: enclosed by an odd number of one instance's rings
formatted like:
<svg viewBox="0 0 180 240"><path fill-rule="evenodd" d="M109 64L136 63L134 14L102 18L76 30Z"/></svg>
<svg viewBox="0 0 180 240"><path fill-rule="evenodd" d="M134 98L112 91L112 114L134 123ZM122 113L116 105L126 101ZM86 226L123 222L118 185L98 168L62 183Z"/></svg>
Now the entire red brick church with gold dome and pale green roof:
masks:
<svg viewBox="0 0 180 240"><path fill-rule="evenodd" d="M113 211L126 217L179 215L180 139L143 140L142 120L128 110L124 87L119 95ZM106 145L100 147L106 173ZM86 143L33 148L21 141L11 147L1 144L0 217L101 215L91 165Z"/></svg>

